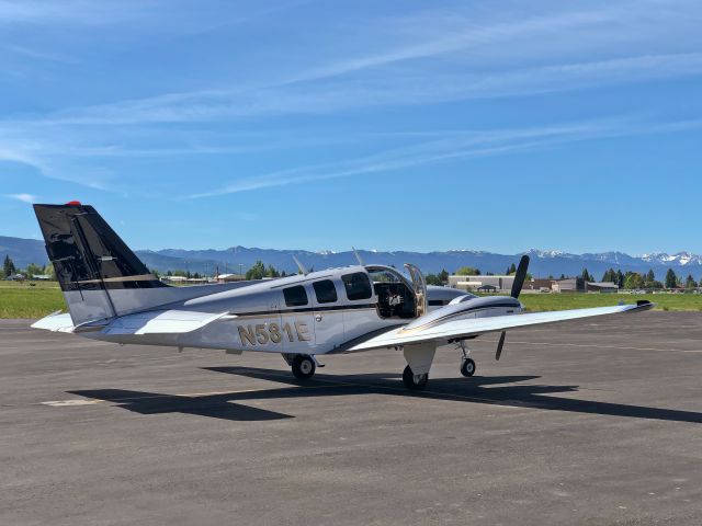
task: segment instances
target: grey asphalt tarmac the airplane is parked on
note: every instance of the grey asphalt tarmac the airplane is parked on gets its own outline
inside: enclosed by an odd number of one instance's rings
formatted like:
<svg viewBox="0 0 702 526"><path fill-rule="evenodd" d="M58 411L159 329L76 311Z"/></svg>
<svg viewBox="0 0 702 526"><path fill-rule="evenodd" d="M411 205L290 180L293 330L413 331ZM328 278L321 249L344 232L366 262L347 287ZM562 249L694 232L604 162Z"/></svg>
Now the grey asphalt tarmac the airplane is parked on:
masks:
<svg viewBox="0 0 702 526"><path fill-rule="evenodd" d="M702 524L702 312L320 358L0 321L1 525Z"/></svg>

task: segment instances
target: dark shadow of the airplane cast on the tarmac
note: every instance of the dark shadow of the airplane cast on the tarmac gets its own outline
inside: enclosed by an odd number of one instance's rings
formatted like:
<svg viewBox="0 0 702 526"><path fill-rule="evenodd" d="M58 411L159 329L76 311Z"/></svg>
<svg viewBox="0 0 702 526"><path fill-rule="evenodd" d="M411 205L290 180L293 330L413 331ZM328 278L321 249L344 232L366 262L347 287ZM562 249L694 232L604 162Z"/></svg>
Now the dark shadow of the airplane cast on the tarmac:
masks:
<svg viewBox="0 0 702 526"><path fill-rule="evenodd" d="M271 421L294 418L276 411L252 408L241 402L291 398L335 397L380 393L395 397L420 397L468 403L511 405L550 411L602 414L668 422L702 423L702 413L675 409L627 405L555 397L555 393L577 392L578 386L546 386L518 382L535 380L539 376L494 376L431 379L426 391L408 391L398 374L325 375L316 374L307 381L295 379L290 373L254 367L204 367L205 370L246 376L284 387L216 395L163 395L124 389L68 391L81 397L105 400L139 414L183 413L229 421Z"/></svg>

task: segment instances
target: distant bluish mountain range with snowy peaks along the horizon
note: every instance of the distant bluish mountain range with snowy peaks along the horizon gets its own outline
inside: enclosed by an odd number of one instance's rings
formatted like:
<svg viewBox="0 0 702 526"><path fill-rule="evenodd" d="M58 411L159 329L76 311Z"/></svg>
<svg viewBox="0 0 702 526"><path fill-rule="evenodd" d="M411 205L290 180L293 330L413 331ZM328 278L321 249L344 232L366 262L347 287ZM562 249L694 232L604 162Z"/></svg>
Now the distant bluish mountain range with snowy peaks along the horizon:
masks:
<svg viewBox="0 0 702 526"><path fill-rule="evenodd" d="M149 267L160 272L184 270L214 274L215 268L220 273L246 271L257 260L267 265L271 264L280 271L296 272L293 261L295 255L308 268L321 270L332 266L344 266L356 262L353 252L310 252L306 250L274 250L246 247L233 247L224 250L137 250L137 255ZM668 268L678 274L692 274L698 279L702 276L702 256L688 252L667 254L654 252L644 255L629 255L622 252L602 252L569 254L558 251L543 251L531 249L519 254L496 254L475 250L450 250L444 252L383 252L374 250L359 250L365 263L377 263L401 267L404 263L414 263L424 273L438 273L445 268L450 273L461 266L473 266L483 273L503 273L509 265L517 263L522 253L531 256L530 272L535 277L548 275L567 276L579 275L587 268L596 277L600 277L610 267L622 272L648 272L653 270L661 279ZM39 265L48 262L44 243L35 239L22 239L0 236L0 259L5 254L14 261L18 267L25 267L30 263Z"/></svg>

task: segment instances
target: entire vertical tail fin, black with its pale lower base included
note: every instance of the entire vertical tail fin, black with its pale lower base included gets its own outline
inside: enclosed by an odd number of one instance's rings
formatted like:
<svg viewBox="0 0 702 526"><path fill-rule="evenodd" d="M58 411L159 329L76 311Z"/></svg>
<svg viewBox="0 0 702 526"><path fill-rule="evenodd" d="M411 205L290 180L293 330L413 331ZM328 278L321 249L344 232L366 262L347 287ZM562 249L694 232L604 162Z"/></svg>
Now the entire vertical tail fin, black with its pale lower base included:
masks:
<svg viewBox="0 0 702 526"><path fill-rule="evenodd" d="M34 211L76 325L154 305L157 298L145 301L135 289L170 288L148 271L92 206L34 205Z"/></svg>

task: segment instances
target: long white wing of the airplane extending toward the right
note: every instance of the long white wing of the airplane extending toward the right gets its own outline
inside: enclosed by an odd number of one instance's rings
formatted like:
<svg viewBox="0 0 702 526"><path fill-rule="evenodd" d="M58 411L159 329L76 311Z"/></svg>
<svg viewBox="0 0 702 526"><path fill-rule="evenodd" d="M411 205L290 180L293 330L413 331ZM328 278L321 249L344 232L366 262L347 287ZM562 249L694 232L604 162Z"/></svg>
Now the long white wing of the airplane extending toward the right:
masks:
<svg viewBox="0 0 702 526"><path fill-rule="evenodd" d="M350 342L343 352L370 351L372 348L394 347L414 343L437 342L438 345L451 340L475 338L488 332L499 332L520 327L554 323L557 321L578 320L596 316L619 315L622 312L639 312L653 308L649 301L637 305L619 305L616 307L598 307L593 309L561 310L555 312L535 312L531 315L495 316L489 318L472 318L448 321L426 329L389 329L381 334L362 336Z"/></svg>

